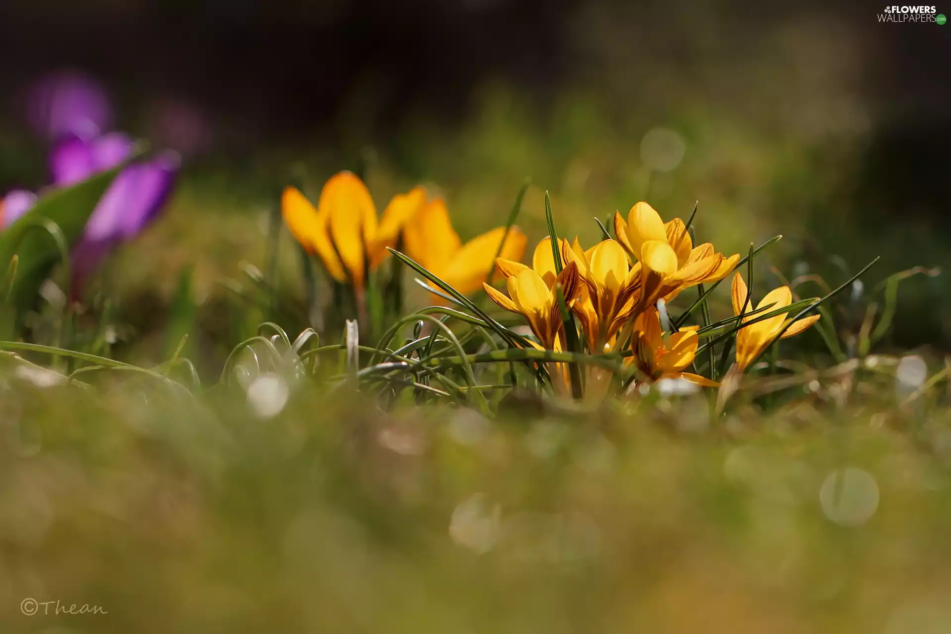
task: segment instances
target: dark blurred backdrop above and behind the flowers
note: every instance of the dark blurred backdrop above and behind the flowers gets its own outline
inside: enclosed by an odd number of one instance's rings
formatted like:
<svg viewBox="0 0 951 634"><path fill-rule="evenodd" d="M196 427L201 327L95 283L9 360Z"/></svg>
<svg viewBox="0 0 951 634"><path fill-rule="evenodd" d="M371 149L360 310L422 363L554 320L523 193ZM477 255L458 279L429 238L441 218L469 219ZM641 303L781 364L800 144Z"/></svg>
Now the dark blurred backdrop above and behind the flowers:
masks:
<svg viewBox="0 0 951 634"><path fill-rule="evenodd" d="M901 268L944 267L951 233L951 26L882 23L882 11L6 0L0 191L45 182L23 110L32 82L66 68L107 86L116 127L184 154L165 218L103 282L148 306L170 300L185 268L204 298L240 259L260 264L263 219L301 166L314 188L359 168L380 207L428 183L464 237L501 222L526 176L533 239L544 189L586 241L592 216L641 199L684 216L699 200L701 237L725 251L784 233L772 261L787 276L834 285L882 255L871 292ZM949 290L943 276L909 280L893 343L947 348ZM128 318L147 330L161 311L146 313Z"/></svg>

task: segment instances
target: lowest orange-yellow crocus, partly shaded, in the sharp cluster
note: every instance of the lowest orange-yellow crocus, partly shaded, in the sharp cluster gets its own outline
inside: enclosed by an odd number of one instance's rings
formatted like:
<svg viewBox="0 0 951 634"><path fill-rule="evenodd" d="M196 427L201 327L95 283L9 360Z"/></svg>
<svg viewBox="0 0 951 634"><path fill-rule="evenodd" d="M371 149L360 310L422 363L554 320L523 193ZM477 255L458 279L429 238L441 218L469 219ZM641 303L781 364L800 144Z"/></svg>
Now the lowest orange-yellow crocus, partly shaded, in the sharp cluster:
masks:
<svg viewBox="0 0 951 634"><path fill-rule="evenodd" d="M653 383L662 378L683 378L704 387L719 385L706 376L684 372L693 363L698 342L695 327L664 335L661 332L660 314L651 307L634 321L631 336L634 354L628 363L633 363L637 368L638 381Z"/></svg>

